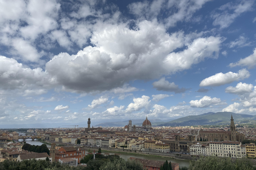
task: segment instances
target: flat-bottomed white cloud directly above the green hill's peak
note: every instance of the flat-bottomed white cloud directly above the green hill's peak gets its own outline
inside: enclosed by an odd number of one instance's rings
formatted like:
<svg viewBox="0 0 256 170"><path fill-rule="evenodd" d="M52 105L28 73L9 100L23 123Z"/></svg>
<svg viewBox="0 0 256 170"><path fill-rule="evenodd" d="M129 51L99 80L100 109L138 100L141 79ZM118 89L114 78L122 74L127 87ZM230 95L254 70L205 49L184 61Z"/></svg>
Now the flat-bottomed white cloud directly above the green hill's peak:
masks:
<svg viewBox="0 0 256 170"><path fill-rule="evenodd" d="M205 108L205 107L212 107L216 105L225 105L226 103L221 101L220 98L211 98L210 96L204 96L200 100L191 100L190 102L191 107L197 108Z"/></svg>

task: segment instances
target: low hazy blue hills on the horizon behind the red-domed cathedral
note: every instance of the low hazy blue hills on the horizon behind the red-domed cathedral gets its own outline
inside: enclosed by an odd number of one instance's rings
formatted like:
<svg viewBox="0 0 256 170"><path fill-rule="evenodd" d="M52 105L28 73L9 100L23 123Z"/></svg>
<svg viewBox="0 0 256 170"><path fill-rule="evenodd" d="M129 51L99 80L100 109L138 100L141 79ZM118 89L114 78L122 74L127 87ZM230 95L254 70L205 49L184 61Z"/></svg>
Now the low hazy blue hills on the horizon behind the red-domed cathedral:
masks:
<svg viewBox="0 0 256 170"><path fill-rule="evenodd" d="M132 124L135 126L142 126L143 121L145 121L145 119L131 119L132 120ZM159 124L164 124L166 122L170 122L174 119L169 119L169 120L165 120L162 121L160 119L149 119L149 121L151 122L152 126L157 126ZM106 123L101 123L101 124L97 124L95 125L95 127L124 127L125 125L128 125L128 121L121 121L121 122L106 122Z"/></svg>

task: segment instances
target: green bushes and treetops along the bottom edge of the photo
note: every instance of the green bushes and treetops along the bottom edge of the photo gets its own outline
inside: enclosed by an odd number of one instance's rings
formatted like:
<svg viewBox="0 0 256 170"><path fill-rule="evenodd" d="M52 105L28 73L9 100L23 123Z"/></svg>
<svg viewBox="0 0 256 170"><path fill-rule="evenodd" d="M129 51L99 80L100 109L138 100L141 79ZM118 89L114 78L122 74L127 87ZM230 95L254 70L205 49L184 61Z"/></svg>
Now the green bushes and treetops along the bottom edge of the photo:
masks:
<svg viewBox="0 0 256 170"><path fill-rule="evenodd" d="M69 167L59 162L47 160L24 160L14 162L5 160L0 162L0 170L146 170L143 165L135 160L124 160L117 155L96 155L85 156L82 162L87 166ZM216 156L201 157L198 161L191 161L189 167L182 167L181 170L256 170L250 159L220 158ZM171 164L167 161L161 170L171 170Z"/></svg>

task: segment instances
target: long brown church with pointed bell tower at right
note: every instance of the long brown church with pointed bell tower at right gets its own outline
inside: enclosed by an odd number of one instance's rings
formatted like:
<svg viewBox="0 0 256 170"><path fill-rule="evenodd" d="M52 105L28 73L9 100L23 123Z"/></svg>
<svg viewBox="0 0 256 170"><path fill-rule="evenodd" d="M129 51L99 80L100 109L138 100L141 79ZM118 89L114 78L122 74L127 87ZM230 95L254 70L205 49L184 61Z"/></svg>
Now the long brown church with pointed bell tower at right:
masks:
<svg viewBox="0 0 256 170"><path fill-rule="evenodd" d="M238 141L242 142L245 139L245 134L239 133L236 130L233 116L231 115L231 123L229 131L209 131L202 130L198 131L196 136L197 141Z"/></svg>

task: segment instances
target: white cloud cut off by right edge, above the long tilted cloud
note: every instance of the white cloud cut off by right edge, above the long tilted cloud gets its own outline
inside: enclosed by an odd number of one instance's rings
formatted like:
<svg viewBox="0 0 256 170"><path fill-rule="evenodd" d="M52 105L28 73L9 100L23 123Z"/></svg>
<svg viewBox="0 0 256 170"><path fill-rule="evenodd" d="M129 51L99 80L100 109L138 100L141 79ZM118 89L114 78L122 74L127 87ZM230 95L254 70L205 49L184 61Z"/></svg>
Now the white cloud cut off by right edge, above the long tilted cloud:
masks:
<svg viewBox="0 0 256 170"><path fill-rule="evenodd" d="M253 54L249 55L248 57L241 58L239 61L236 63L230 63L230 67L235 67L235 66L246 66L248 68L252 68L256 65L256 48L253 50Z"/></svg>

